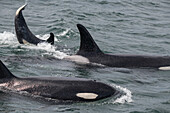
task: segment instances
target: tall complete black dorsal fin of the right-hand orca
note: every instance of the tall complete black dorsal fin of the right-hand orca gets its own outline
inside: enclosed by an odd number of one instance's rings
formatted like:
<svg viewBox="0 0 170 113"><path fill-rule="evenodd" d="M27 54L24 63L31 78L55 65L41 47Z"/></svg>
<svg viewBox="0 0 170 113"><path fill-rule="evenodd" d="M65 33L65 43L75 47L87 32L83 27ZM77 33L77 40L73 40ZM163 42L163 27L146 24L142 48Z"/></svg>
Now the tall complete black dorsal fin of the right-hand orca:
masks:
<svg viewBox="0 0 170 113"><path fill-rule="evenodd" d="M80 32L80 49L77 52L78 55L83 55L85 53L103 53L83 25L77 24L77 28Z"/></svg>

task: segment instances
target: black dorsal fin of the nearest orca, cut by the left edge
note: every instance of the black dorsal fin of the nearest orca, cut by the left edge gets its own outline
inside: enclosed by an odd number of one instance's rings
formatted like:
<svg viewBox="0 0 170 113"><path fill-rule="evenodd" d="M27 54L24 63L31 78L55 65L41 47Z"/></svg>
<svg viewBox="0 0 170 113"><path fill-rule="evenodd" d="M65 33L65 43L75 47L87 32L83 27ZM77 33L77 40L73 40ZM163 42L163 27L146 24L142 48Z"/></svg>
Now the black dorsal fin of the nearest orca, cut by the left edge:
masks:
<svg viewBox="0 0 170 113"><path fill-rule="evenodd" d="M0 60L0 79L15 77Z"/></svg>

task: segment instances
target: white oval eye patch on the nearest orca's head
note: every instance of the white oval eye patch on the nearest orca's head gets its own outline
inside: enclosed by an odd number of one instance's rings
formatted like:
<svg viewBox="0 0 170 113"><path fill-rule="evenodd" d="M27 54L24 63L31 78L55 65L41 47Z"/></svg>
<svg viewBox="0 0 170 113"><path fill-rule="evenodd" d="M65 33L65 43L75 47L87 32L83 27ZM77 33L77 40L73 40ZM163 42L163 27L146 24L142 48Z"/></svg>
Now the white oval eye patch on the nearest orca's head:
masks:
<svg viewBox="0 0 170 113"><path fill-rule="evenodd" d="M83 98L83 99L96 99L97 98L97 94L95 93L77 93L76 94L77 97Z"/></svg>

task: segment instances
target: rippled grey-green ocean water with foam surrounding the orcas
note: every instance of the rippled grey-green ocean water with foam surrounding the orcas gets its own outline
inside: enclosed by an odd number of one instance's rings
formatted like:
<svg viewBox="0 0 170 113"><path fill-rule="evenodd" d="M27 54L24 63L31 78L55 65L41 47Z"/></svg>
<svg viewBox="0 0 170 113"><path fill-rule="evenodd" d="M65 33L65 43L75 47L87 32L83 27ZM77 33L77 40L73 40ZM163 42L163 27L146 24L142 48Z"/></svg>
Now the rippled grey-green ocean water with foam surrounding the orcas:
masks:
<svg viewBox="0 0 170 113"><path fill-rule="evenodd" d="M55 34L55 45L18 43L14 17L23 15L39 38ZM170 113L170 71L87 67L63 60L80 45L83 24L109 54L170 55L169 0L0 0L0 60L18 77L64 76L95 79L122 92L90 103L42 102L0 92L2 113Z"/></svg>

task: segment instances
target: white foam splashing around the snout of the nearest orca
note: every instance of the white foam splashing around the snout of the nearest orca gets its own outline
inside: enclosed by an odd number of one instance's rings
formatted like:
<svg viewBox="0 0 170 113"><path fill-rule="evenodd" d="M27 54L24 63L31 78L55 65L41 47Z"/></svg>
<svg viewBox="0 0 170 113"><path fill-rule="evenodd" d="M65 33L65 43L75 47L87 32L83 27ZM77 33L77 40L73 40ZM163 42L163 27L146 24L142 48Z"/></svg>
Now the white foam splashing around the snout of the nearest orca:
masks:
<svg viewBox="0 0 170 113"><path fill-rule="evenodd" d="M123 91L123 93L125 93L124 95L122 95L121 97L117 98L116 100L114 100L113 104L115 103L120 103L120 104L124 104L125 102L133 102L132 100L132 93L130 90L128 90L127 88L123 88L121 86L112 84L112 86L120 91Z"/></svg>

